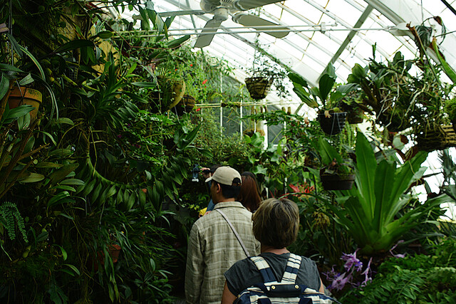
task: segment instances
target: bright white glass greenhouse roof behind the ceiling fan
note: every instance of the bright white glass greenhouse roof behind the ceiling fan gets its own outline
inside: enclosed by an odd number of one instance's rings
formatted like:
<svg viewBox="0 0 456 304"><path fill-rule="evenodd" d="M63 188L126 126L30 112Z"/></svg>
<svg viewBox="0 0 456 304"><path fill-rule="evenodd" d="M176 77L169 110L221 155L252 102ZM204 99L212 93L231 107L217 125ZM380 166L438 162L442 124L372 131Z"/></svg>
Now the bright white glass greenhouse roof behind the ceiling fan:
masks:
<svg viewBox="0 0 456 304"><path fill-rule="evenodd" d="M271 1L274 0L205 0L205 3L206 8L212 5L214 9L217 5L252 7ZM344 82L355 63L367 65L374 43L376 56L391 58L401 51L405 58L413 58L418 48L405 24L411 22L414 26L425 21L426 26L433 27L432 35L437 36L440 51L447 62L456 67L456 53L452 52L456 49L453 4L455 0L286 0L246 11L239 11L238 7L229 10L230 16L225 16L227 19L221 22L212 41L202 49L209 55L223 58L235 68L239 67L234 71L234 77L240 83L246 77L241 67L252 68L257 47L302 75L311 85L316 85L328 63L333 63L336 68L338 81ZM175 15L169 29L170 36L190 34L192 46L197 43L198 33L206 23L214 22L214 11L202 11L199 0L157 0L154 9L163 19ZM276 36L284 31L289 33L276 38L264 33L270 31L270 27L257 27L257 31L242 26L234 22L236 18L233 19L239 12L276 23ZM133 16L135 13L125 14ZM445 36L439 36L442 27L432 19L433 16L441 17L447 33ZM207 31L213 30L207 28ZM280 100L274 94L269 94L266 99L269 103L292 108L301 103L294 93L288 100Z"/></svg>

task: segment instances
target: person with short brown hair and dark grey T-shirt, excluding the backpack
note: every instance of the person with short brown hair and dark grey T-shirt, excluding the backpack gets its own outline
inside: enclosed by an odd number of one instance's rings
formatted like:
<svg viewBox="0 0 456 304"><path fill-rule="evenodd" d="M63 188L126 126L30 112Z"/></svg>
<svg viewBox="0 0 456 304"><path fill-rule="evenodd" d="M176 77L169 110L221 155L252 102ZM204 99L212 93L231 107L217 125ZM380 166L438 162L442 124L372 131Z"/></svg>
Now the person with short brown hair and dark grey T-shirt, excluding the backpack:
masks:
<svg viewBox="0 0 456 304"><path fill-rule="evenodd" d="M261 258L269 264L271 273L281 281L289 261L290 251L286 249L296 240L299 231L299 209L289 199L266 199L252 215L255 238L261 243ZM323 293L324 285L316 263L310 258L293 255L301 260L296 276L297 285ZM243 290L255 284L264 283L260 271L251 258L244 258L224 273L222 304L231 304Z"/></svg>

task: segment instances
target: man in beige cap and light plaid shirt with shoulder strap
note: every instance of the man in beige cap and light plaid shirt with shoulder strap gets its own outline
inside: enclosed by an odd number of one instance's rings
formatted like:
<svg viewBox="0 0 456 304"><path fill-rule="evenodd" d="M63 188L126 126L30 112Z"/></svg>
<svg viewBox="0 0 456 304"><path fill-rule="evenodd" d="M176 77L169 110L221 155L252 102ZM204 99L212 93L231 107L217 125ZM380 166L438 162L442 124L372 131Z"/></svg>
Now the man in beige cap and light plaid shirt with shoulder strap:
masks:
<svg viewBox="0 0 456 304"><path fill-rule="evenodd" d="M227 216L250 256L257 256L260 249L252 231L252 213L236 201L241 174L232 167L219 167L206 182L211 180L214 211L193 224L188 239L185 298L190 304L220 303L225 281L223 273L247 257L217 209Z"/></svg>

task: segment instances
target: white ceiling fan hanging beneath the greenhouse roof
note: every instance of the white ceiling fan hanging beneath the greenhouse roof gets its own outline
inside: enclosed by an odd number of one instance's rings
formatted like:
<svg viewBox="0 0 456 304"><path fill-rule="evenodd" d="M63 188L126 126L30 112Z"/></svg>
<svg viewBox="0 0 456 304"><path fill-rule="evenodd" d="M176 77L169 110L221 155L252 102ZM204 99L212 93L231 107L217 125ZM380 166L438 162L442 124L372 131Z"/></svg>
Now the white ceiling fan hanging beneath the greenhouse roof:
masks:
<svg viewBox="0 0 456 304"><path fill-rule="evenodd" d="M280 31L277 30L279 24L267 21L260 18L259 16L244 14L242 11L254 9L259 6L266 4L273 4L284 0L201 0L200 6L202 11L170 11L167 13L159 13L160 16L180 16L180 15L202 15L202 14L214 14L214 17L207 21L204 28L199 33L195 48L204 48L209 46L212 39L214 38L215 32L220 27L223 21L227 20L230 13L232 20L236 23L242 24L243 26L256 28L259 31L263 31L276 38L284 38L288 35L289 31L287 28L281 27Z"/></svg>

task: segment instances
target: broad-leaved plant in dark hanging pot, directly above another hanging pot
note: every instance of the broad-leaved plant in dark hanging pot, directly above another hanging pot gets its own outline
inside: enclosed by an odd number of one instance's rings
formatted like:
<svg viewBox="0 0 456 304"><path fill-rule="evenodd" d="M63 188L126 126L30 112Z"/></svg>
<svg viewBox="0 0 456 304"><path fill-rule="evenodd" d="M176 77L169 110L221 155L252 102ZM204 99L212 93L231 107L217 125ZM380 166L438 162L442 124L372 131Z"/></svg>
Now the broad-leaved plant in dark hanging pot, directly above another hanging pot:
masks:
<svg viewBox="0 0 456 304"><path fill-rule="evenodd" d="M289 78L294 85L294 93L311 108L318 109L318 122L321 129L328 135L336 135L345 127L347 112L338 107L338 103L355 85L338 85L336 89L336 73L333 65L328 65L318 80L318 87L309 88L306 80L296 73L290 73Z"/></svg>

